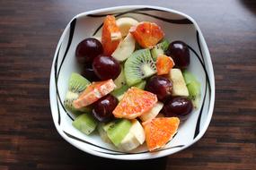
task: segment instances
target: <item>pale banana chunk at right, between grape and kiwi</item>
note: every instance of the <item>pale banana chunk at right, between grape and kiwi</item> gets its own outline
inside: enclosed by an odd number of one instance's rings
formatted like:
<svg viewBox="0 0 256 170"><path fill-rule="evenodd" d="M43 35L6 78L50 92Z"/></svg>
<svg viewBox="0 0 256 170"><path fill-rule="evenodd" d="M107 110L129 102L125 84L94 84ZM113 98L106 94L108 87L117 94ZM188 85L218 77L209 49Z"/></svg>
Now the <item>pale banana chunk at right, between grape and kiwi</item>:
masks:
<svg viewBox="0 0 256 170"><path fill-rule="evenodd" d="M172 69L169 73L170 79L172 81L172 95L189 97L189 90L184 81L182 72L180 69Z"/></svg>

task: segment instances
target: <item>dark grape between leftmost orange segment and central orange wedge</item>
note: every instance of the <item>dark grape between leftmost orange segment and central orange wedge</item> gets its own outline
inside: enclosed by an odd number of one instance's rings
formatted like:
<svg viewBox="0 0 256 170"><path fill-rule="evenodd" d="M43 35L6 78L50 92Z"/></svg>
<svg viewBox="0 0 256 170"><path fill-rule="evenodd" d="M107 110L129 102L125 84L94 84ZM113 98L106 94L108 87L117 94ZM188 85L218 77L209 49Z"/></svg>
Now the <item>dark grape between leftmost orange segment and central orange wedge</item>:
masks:
<svg viewBox="0 0 256 170"><path fill-rule="evenodd" d="M112 111L118 104L119 100L112 95L100 98L93 104L93 115L100 122L108 122L114 117Z"/></svg>

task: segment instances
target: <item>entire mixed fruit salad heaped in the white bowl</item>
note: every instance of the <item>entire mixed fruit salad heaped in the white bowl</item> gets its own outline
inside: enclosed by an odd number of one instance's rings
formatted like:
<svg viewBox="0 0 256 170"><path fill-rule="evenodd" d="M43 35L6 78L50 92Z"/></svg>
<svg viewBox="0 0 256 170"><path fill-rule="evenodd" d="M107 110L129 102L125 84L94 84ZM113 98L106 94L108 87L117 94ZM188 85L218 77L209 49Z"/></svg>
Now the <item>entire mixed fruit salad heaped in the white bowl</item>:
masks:
<svg viewBox="0 0 256 170"><path fill-rule="evenodd" d="M172 140L180 119L199 107L200 83L187 70L188 45L169 40L157 23L106 16L102 36L75 50L83 72L71 74L64 101L73 126L124 151Z"/></svg>

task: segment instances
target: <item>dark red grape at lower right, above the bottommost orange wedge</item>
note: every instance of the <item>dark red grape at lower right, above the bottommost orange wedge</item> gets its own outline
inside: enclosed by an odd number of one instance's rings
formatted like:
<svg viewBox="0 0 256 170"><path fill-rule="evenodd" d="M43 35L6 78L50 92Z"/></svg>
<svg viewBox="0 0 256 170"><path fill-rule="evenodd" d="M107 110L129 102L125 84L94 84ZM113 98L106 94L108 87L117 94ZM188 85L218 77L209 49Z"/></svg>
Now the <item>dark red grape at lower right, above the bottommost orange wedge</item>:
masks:
<svg viewBox="0 0 256 170"><path fill-rule="evenodd" d="M189 115L193 109L190 99L184 97L171 98L162 109L163 115L167 117Z"/></svg>

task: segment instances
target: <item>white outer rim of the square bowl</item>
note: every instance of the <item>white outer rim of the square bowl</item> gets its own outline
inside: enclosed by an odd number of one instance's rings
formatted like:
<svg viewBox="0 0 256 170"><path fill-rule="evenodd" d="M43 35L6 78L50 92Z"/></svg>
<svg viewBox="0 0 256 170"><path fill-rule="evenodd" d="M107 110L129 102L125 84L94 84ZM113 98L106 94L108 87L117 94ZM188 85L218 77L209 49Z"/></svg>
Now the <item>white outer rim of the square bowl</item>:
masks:
<svg viewBox="0 0 256 170"><path fill-rule="evenodd" d="M182 147L181 149L177 149L177 150L175 149L174 151L172 151L172 150L171 151L170 150L163 150L163 151L159 151L158 154L146 153L146 155L143 154L143 155L141 155L141 157L132 157L132 155L129 155L129 157L119 157L119 155L108 155L108 154L104 154L104 153L100 153L100 152L95 152L93 149L83 148L83 147L77 145L72 140L70 140L70 138L67 138L66 134L60 129L60 126L57 124L57 121L55 121L55 119L54 119L54 114L53 114L54 111L53 111L53 106L52 105L53 105L53 103L55 103L55 101L54 101L54 98L51 97L51 87L53 85L52 72L53 72L54 66L55 66L54 61L56 60L57 49L58 49L58 47L60 47L60 44L63 41L63 39L66 35L66 32L69 29L69 24L75 18L81 18L81 17L84 17L88 14L106 13L106 12L111 12L111 11L115 11L115 10L133 10L133 9L139 9L139 8L152 8L152 9L161 10L161 11L164 11L164 12L175 13L175 14L181 15L184 18L189 19L193 23L193 25L195 26L196 30L198 30L199 37L200 37L200 40L201 40L201 46L205 47L205 53L208 56L208 57L204 57L204 59L207 60L207 62L206 62L208 64L207 65L207 73L208 73L208 79L209 79L210 85L211 85L210 86L211 87L211 96L210 96L210 101L209 101L207 119L206 119L206 122L204 123L205 125L200 130L198 136L195 139L192 140L192 142L190 142L186 146ZM185 13L181 13L181 12L178 12L176 10L172 10L172 9L165 8L165 7L160 7L160 6L154 6L154 5L120 5L120 6L114 6L114 7L95 9L95 10L84 12L84 13L78 13L72 18L71 21L68 22L68 24L66 25L66 29L62 32L62 35L58 40L56 52L54 54L54 58L53 58L52 66L51 66L50 79L49 79L49 100L50 100L51 114L52 114L53 122L55 124L56 129L57 129L57 132L61 135L61 137L63 139L65 139L68 143L73 145L75 148L83 150L84 152L92 154L94 156L107 157L107 158L111 158L111 159L121 159L121 160L139 160L139 159L153 159L153 158L157 158L157 157L165 157L165 156L168 156L168 155L172 155L176 152L179 152L183 149L186 149L186 148L190 147L192 144L194 144L195 142L197 142L199 139L201 139L201 137L207 131L207 127L208 127L208 125L211 121L212 115L213 115L214 104L215 104L215 76L214 76L213 65L212 65L212 62L211 62L211 57L210 57L210 54L209 54L209 51L208 51L208 48L207 48L205 38L203 37L202 31L199 29L198 23L193 18L191 18L189 15L187 15Z"/></svg>

